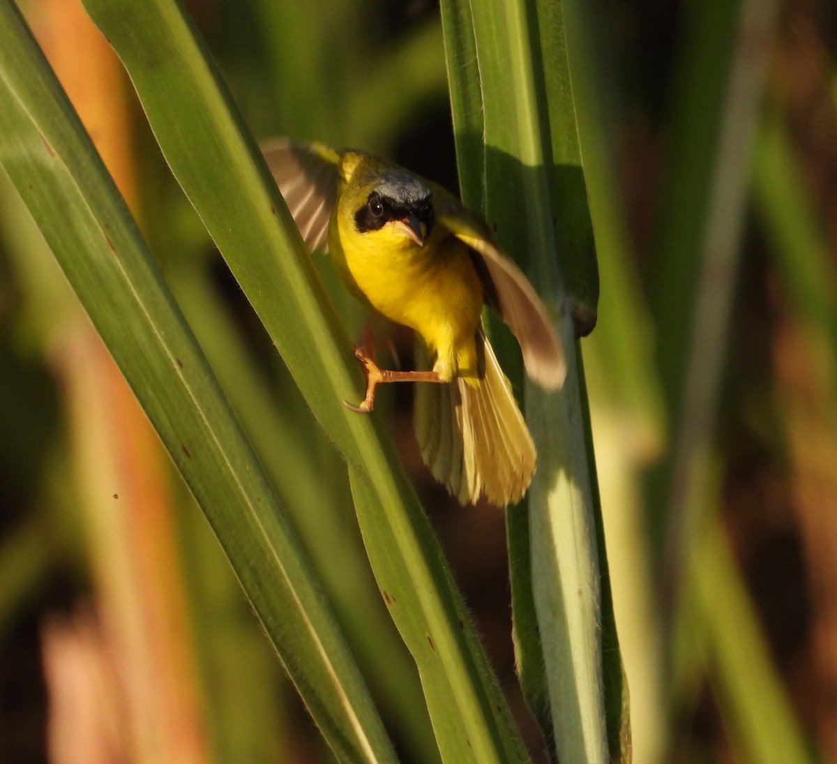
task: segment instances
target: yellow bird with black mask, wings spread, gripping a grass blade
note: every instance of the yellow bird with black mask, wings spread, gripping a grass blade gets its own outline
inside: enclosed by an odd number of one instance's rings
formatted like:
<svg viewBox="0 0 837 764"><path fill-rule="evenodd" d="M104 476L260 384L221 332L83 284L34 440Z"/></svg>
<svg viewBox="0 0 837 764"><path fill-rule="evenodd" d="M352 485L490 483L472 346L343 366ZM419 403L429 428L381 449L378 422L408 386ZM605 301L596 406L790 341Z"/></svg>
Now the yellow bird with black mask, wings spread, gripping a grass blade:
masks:
<svg viewBox="0 0 837 764"><path fill-rule="evenodd" d="M526 374L547 389L566 373L561 344L520 269L459 199L385 159L280 140L264 156L302 238L326 249L372 311L413 328L416 371L379 369L357 348L370 411L376 385L419 381L414 426L424 462L459 499L505 507L531 483L531 435L485 338L488 305L521 346ZM427 366L430 366L428 369Z"/></svg>

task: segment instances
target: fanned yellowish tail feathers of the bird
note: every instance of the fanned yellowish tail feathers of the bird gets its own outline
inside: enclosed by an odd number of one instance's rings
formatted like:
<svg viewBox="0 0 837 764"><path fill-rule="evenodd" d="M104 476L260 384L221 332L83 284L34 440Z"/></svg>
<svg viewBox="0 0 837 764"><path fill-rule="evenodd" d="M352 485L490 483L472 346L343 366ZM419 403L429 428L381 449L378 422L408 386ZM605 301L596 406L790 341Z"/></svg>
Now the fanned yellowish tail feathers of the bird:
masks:
<svg viewBox="0 0 837 764"><path fill-rule="evenodd" d="M417 384L414 425L424 463L460 503L480 495L498 507L519 501L535 472L536 453L526 421L494 350L480 332L485 375L447 385ZM430 368L423 349L417 368Z"/></svg>

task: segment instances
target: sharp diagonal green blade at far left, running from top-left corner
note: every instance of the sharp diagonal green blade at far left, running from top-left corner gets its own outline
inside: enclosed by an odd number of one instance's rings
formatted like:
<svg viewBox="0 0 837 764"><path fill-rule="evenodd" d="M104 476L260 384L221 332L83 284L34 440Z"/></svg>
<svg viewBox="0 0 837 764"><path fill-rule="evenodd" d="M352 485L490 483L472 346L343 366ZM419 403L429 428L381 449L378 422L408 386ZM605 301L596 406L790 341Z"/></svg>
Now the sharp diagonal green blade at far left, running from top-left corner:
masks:
<svg viewBox="0 0 837 764"><path fill-rule="evenodd" d="M16 9L0 3L0 157L344 761L395 761L285 514L136 225Z"/></svg>

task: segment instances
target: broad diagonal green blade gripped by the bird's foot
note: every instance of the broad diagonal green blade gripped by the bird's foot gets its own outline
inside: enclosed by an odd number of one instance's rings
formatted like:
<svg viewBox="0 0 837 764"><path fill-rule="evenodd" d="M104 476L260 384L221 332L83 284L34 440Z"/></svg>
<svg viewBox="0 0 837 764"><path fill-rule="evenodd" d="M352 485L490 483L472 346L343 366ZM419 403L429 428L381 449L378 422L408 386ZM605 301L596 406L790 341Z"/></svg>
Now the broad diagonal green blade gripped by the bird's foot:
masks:
<svg viewBox="0 0 837 764"><path fill-rule="evenodd" d="M178 182L347 458L378 586L402 592L393 619L423 678L435 663L449 677L424 682L444 760L525 761L505 699L378 417L357 416L341 403L361 397L351 345L182 8L167 0L86 0L85 7L126 65ZM428 634L435 650L425 647Z"/></svg>

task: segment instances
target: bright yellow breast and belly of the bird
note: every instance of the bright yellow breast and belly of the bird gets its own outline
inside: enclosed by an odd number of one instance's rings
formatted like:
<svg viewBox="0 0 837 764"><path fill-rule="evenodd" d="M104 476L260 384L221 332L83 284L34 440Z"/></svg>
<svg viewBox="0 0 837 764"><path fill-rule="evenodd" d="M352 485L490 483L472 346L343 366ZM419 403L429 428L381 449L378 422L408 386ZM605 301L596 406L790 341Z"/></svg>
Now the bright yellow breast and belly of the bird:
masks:
<svg viewBox="0 0 837 764"><path fill-rule="evenodd" d="M352 292L418 332L442 379L476 377L482 284L466 246L453 236L431 237L422 248L369 234L345 239L332 234L329 249Z"/></svg>

